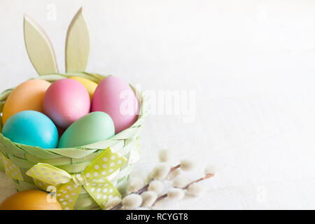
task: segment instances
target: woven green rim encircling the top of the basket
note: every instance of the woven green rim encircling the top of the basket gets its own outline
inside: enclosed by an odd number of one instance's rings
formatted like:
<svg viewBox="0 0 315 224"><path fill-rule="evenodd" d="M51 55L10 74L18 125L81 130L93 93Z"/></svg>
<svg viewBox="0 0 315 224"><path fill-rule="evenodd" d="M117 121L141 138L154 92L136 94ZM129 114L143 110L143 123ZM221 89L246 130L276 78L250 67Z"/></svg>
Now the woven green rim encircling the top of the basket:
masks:
<svg viewBox="0 0 315 224"><path fill-rule="evenodd" d="M53 83L55 80L59 80L59 79L64 79L64 78L69 78L71 76L80 76L83 78L87 78L89 80L92 80L94 82L99 83L100 80L102 80L103 78L107 78L110 75L101 75L99 73L88 73L88 72L81 72L81 73L51 73L51 74L45 74L45 75L41 75L38 76L36 78L29 78L28 80L31 79L43 79L43 80L48 80L50 83ZM29 145L25 145L25 144L18 144L15 143L13 141L10 141L10 139L6 138L3 136L2 133L0 133L0 142L6 142L6 144L10 144L13 145L17 148L17 150L22 150L25 151L23 149L25 148L32 148L32 149L36 149L36 151L45 151L46 153L53 153L55 155L60 155L60 156L66 156L64 155L64 153L59 154L58 151L76 151L78 153L78 151L85 151L84 156L85 155L90 155L90 153L94 153L95 151L104 151L106 148L104 147L97 147L95 148L97 145L99 144L104 144L106 142L111 142L111 141L124 141L126 139L126 136L130 135L130 134L137 134L137 131L139 131L139 129L141 129L141 125L143 125L144 120L146 118L146 116L148 115L148 111L146 110L146 97L144 96L144 94L137 90L136 87L134 87L133 85L131 85L130 83L128 83L130 85L130 87L132 88L132 90L134 91L134 94L136 94L137 100L139 102L139 116L137 121L130 127L128 127L127 129L123 130L122 132L119 132L117 134L115 134L113 137L111 137L110 139L106 139L106 140L102 140L102 141L96 141L93 142L91 144L87 144L85 146L77 146L77 147L71 147L71 148L41 148L38 146L29 146ZM15 86L16 87L16 86ZM4 90L3 92L1 92L0 94L0 104L1 104L1 109L0 112L2 112L3 109L3 102L6 101L6 98L8 97L8 95L10 94L10 92L12 92L15 87L12 87L10 89ZM4 97L3 97L4 95ZM3 99L4 98L4 99ZM0 114L0 118L2 118L2 115ZM0 121L0 127L2 129L2 123ZM132 132L132 130L134 130ZM1 130L0 130L1 131ZM87 153L90 152L90 153ZM71 153L72 154L72 153ZM69 157L69 156L66 156ZM71 158L76 158L71 156ZM77 158L82 158L82 156L79 156Z"/></svg>

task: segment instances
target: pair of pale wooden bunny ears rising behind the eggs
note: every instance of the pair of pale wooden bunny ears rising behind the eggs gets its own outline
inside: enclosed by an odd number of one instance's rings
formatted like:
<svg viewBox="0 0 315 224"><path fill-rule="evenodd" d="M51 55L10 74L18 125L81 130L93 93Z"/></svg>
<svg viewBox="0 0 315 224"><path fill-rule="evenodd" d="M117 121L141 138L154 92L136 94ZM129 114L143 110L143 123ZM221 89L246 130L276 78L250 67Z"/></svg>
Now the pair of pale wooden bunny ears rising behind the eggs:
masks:
<svg viewBox="0 0 315 224"><path fill-rule="evenodd" d="M90 36L82 14L72 19L66 34L66 72L83 72L90 52ZM27 54L39 75L58 73L55 52L45 31L28 15L24 17L24 37Z"/></svg>

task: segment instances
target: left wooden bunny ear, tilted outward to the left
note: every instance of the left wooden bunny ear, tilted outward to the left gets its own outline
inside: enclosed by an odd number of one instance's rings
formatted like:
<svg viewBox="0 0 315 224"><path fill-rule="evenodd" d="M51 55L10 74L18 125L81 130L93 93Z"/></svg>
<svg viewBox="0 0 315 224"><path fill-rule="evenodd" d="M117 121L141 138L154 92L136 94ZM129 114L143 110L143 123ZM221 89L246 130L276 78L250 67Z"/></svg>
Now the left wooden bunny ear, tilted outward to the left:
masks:
<svg viewBox="0 0 315 224"><path fill-rule="evenodd" d="M58 73L54 49L45 31L28 15L24 16L27 54L39 75Z"/></svg>

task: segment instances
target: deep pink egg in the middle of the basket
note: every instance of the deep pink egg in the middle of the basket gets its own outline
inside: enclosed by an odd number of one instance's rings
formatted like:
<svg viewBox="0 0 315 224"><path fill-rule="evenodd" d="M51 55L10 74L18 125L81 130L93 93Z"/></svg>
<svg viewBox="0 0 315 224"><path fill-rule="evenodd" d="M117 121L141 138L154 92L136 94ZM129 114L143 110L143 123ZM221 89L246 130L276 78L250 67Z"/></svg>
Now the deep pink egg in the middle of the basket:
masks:
<svg viewBox="0 0 315 224"><path fill-rule="evenodd" d="M57 80L45 92L43 111L58 127L69 127L90 112L90 95L76 80Z"/></svg>

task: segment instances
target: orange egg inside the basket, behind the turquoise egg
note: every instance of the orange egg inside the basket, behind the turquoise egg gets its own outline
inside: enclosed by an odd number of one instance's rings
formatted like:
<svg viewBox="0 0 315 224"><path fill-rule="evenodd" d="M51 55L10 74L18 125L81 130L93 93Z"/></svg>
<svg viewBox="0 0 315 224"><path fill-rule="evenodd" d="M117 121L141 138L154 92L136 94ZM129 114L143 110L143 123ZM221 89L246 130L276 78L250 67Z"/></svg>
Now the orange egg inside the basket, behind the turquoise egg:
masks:
<svg viewBox="0 0 315 224"><path fill-rule="evenodd" d="M50 86L46 80L31 79L18 85L6 99L2 111L2 123L20 111L43 112L43 97Z"/></svg>

